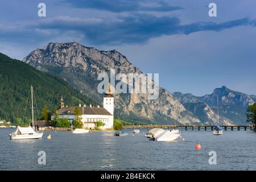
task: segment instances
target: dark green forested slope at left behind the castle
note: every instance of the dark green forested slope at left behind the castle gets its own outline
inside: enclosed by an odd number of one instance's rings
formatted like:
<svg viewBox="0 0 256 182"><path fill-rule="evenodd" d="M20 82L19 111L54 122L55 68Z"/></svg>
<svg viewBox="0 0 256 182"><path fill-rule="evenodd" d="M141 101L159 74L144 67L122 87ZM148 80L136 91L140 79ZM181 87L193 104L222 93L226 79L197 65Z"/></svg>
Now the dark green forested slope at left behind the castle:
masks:
<svg viewBox="0 0 256 182"><path fill-rule="evenodd" d="M92 99L80 94L61 78L43 73L22 61L0 53L0 119L13 125L24 125L31 118L30 86L35 93L35 118L39 119L44 106L51 112L59 107L63 97L65 105L97 105Z"/></svg>

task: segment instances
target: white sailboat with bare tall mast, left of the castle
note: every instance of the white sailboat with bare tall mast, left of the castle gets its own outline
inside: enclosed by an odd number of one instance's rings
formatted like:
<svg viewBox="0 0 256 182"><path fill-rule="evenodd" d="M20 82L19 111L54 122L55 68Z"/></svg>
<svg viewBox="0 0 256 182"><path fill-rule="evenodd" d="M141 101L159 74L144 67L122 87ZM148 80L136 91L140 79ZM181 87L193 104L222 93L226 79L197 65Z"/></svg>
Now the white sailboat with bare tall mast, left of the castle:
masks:
<svg viewBox="0 0 256 182"><path fill-rule="evenodd" d="M43 133L36 131L34 122L34 104L33 104L33 87L31 86L31 109L32 109L32 127L17 127L14 133L10 134L10 139L40 139L43 137Z"/></svg>

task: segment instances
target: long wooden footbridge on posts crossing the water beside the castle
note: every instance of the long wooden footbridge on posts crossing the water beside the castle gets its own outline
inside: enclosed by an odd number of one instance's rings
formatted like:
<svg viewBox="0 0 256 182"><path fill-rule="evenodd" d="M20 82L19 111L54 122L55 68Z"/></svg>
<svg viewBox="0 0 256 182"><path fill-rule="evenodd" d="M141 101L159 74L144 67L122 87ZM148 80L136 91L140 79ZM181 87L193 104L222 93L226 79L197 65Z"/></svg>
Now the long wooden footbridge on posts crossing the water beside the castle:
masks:
<svg viewBox="0 0 256 182"><path fill-rule="evenodd" d="M214 127L216 126L177 126L177 125L127 125L127 126L123 126L123 129L142 129L142 128L146 128L147 130L153 129L153 128L160 128L160 129L185 129L185 131L187 130L205 130L207 131L207 129L213 130ZM246 131L247 129L253 130L253 126L246 126L246 125L233 125L233 126L221 126L222 128L224 128L224 130L226 131L227 129L230 129L231 131L234 131L234 129L236 129L237 131L240 131L241 128L243 128L244 131Z"/></svg>

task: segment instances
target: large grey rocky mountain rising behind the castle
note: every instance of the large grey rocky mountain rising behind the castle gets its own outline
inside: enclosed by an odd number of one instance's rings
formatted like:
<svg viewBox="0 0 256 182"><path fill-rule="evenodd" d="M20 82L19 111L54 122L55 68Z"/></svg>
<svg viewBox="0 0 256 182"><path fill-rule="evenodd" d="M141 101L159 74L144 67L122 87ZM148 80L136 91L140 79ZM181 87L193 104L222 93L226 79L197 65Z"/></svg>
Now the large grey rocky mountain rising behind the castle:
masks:
<svg viewBox="0 0 256 182"><path fill-rule="evenodd" d="M116 50L99 51L77 42L49 43L45 49L32 51L23 61L63 78L97 102L102 101L101 94L97 92L97 76L100 73L110 73L110 69L115 69L115 74L142 73ZM114 97L115 114L122 117L155 123L200 123L198 118L163 88L160 88L156 100L148 100L148 94L115 94Z"/></svg>

